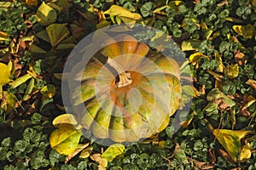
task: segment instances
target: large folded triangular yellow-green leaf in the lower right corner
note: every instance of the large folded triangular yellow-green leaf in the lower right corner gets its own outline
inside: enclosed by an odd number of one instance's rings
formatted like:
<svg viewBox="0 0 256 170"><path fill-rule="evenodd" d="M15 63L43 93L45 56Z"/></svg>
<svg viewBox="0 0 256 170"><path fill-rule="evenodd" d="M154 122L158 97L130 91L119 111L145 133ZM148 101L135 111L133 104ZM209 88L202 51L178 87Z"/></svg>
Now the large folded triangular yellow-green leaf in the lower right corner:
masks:
<svg viewBox="0 0 256 170"><path fill-rule="evenodd" d="M212 131L218 142L223 145L234 161L237 161L241 150L241 139L250 131L238 131L228 129L214 129Z"/></svg>

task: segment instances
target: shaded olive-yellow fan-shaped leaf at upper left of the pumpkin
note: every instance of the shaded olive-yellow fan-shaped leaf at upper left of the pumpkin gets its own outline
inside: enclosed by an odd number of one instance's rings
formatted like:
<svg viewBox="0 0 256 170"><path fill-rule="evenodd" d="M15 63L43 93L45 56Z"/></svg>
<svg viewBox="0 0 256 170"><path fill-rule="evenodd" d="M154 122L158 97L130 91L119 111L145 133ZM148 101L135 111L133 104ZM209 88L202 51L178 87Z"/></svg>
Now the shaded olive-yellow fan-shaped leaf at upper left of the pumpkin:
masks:
<svg viewBox="0 0 256 170"><path fill-rule="evenodd" d="M66 26L67 24L52 24L46 27L51 47L55 48L58 43L68 36L69 31Z"/></svg>

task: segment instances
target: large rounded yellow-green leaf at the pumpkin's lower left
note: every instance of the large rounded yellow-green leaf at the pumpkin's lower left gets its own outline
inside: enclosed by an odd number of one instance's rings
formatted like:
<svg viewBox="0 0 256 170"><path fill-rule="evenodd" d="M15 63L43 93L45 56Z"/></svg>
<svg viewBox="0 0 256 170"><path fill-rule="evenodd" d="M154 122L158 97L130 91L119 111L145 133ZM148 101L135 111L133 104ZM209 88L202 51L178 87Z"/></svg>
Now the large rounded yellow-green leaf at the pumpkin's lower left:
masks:
<svg viewBox="0 0 256 170"><path fill-rule="evenodd" d="M50 134L50 146L60 154L69 155L79 145L80 133L73 125L65 124Z"/></svg>

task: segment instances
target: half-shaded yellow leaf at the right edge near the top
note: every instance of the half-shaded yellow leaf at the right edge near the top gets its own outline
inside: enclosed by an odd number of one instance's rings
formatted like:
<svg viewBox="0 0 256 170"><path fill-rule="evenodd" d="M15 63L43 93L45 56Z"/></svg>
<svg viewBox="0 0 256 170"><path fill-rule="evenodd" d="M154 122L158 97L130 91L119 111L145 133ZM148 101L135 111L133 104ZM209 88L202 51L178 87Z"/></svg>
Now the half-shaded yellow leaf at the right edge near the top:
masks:
<svg viewBox="0 0 256 170"><path fill-rule="evenodd" d="M247 26L233 26L233 29L236 31L237 34L244 38L252 38L253 37L253 26L247 24Z"/></svg>

